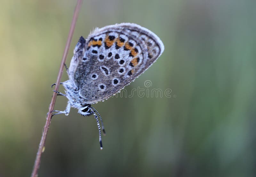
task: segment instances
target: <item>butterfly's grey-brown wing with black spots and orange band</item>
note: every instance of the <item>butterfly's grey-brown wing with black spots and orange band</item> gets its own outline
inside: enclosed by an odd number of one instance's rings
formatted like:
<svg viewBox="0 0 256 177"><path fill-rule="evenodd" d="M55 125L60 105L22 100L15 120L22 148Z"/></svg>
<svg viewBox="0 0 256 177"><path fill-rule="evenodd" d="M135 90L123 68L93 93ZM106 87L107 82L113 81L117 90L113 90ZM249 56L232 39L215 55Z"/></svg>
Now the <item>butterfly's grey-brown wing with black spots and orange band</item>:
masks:
<svg viewBox="0 0 256 177"><path fill-rule="evenodd" d="M81 37L82 38L82 37ZM163 53L162 41L140 25L109 25L79 40L70 80L86 103L104 100L133 81Z"/></svg>

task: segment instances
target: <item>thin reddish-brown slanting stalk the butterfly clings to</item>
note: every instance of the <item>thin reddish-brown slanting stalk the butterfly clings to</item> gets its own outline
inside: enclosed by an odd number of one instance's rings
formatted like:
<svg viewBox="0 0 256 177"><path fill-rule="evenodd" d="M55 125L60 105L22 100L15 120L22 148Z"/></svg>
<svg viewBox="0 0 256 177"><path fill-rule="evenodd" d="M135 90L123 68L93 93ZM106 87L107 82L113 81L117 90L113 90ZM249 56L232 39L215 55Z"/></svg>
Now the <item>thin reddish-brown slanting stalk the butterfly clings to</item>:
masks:
<svg viewBox="0 0 256 177"><path fill-rule="evenodd" d="M66 59L67 59L68 49L69 49L71 39L72 39L74 30L75 30L76 21L77 21L77 17L78 17L80 7L82 5L82 1L83 0L77 0L77 4L76 4L75 11L74 11L73 19L72 19L70 30L69 30L69 33L68 33L68 40L67 40L65 50L64 50L64 53L63 53L63 56L62 56L61 64L60 64L60 70L59 70L59 74L58 74L58 77L57 77L55 90L58 90L59 86L60 86L60 79L61 79L61 76L62 76L62 73L63 73L64 63L66 62ZM39 147L38 147L38 151L36 153L36 160L35 160L35 164L34 164L34 168L33 168L31 177L37 177L38 176L37 173L38 173L38 169L39 169L39 166L40 166L41 156L42 156L42 153L44 151L46 136L47 136L47 133L48 133L49 126L51 124L52 110L54 108L54 104L55 104L55 101L56 101L56 96L57 96L57 93L53 92L52 101L51 101L51 104L49 106L49 114L47 116L46 123L44 125L44 131L43 131L43 135L42 135Z"/></svg>

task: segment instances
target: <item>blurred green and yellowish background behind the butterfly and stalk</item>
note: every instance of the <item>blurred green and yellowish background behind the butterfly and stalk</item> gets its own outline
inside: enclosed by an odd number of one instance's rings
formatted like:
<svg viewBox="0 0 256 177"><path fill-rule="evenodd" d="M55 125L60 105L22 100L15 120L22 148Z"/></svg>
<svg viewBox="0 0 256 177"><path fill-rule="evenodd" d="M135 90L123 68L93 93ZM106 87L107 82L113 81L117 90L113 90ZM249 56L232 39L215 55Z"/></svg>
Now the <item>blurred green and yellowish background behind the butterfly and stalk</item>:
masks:
<svg viewBox="0 0 256 177"><path fill-rule="evenodd" d="M31 174L75 4L1 1L0 177ZM149 89L172 89L172 97L94 105L107 131L103 151L93 117L74 109L54 117L39 177L255 176L255 7L255 0L84 1L67 64L96 26L137 23L165 51L126 90L150 80ZM55 109L66 103L58 97Z"/></svg>

